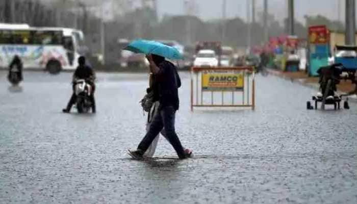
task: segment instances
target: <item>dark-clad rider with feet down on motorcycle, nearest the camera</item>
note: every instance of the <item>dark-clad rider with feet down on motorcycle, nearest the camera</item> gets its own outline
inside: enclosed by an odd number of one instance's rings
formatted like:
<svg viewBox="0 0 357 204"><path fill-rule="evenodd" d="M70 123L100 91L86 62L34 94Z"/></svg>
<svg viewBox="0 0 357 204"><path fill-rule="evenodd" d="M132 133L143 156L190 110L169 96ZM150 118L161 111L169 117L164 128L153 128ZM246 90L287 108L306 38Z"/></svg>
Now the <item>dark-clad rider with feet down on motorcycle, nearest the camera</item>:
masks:
<svg viewBox="0 0 357 204"><path fill-rule="evenodd" d="M95 99L94 99L94 90L95 90L95 73L93 69L89 66L86 65L86 58L81 56L78 58L78 64L79 66L73 73L73 79L72 79L72 89L73 93L71 98L69 99L67 108L63 109L62 111L64 113L69 113L73 104L77 100L77 96L75 95L74 87L75 87L75 82L77 80L83 79L86 80L86 82L92 87L92 92L90 94L90 100L92 102L92 113L95 113Z"/></svg>

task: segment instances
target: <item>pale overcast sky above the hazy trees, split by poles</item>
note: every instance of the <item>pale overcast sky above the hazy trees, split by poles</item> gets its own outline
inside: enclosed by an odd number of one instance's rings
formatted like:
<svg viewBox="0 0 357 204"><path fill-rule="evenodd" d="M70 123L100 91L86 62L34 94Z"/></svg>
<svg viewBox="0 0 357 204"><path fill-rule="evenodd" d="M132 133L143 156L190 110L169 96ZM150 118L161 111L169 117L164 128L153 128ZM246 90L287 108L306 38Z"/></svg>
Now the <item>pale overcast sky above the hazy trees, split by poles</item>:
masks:
<svg viewBox="0 0 357 204"><path fill-rule="evenodd" d="M159 16L182 15L185 13L185 0L157 0ZM222 0L195 0L198 5L198 16L203 20L222 17ZM247 0L226 0L227 17L246 19ZM249 0L251 1L251 0ZM295 18L304 22L304 15L322 14L330 19L338 19L338 2L340 1L341 20L344 21L344 2L343 0L295 0ZM275 17L285 18L287 16L287 0L268 0L269 13ZM263 8L263 0L256 0L257 12Z"/></svg>

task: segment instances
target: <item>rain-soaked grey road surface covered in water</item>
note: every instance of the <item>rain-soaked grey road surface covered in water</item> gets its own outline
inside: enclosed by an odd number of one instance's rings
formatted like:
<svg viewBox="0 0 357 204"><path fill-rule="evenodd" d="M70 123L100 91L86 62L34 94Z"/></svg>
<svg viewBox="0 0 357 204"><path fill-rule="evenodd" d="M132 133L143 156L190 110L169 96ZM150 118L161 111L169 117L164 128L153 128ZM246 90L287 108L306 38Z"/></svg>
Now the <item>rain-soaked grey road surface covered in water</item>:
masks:
<svg viewBox="0 0 357 204"><path fill-rule="evenodd" d="M306 110L315 90L257 76L257 107L190 111L181 73L176 132L195 158L144 136L147 74L97 73L97 113L61 113L70 73L0 71L0 203L357 203L357 105ZM171 158L171 159L170 159Z"/></svg>

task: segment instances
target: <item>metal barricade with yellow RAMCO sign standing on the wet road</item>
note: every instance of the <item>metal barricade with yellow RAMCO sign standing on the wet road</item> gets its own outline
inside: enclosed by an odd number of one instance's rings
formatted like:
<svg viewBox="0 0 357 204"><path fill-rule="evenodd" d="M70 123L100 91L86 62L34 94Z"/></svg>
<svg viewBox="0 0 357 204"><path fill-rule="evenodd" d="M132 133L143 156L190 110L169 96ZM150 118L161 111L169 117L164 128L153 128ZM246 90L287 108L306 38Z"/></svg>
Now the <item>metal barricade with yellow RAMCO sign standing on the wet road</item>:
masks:
<svg viewBox="0 0 357 204"><path fill-rule="evenodd" d="M217 94L221 97L218 102ZM231 98L229 103L227 98ZM192 67L191 111L194 107L251 107L254 110L254 68Z"/></svg>

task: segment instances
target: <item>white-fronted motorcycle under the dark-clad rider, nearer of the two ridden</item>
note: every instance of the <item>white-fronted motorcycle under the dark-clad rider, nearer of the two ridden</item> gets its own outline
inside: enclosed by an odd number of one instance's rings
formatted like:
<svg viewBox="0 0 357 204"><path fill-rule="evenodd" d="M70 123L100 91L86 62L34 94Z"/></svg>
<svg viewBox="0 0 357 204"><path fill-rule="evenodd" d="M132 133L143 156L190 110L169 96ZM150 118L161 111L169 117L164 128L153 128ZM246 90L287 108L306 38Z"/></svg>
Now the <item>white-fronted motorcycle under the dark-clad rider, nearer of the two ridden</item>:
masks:
<svg viewBox="0 0 357 204"><path fill-rule="evenodd" d="M77 101L75 107L78 113L88 113L92 107L90 100L92 94L92 86L86 80L76 80L74 87L75 95L77 95Z"/></svg>

